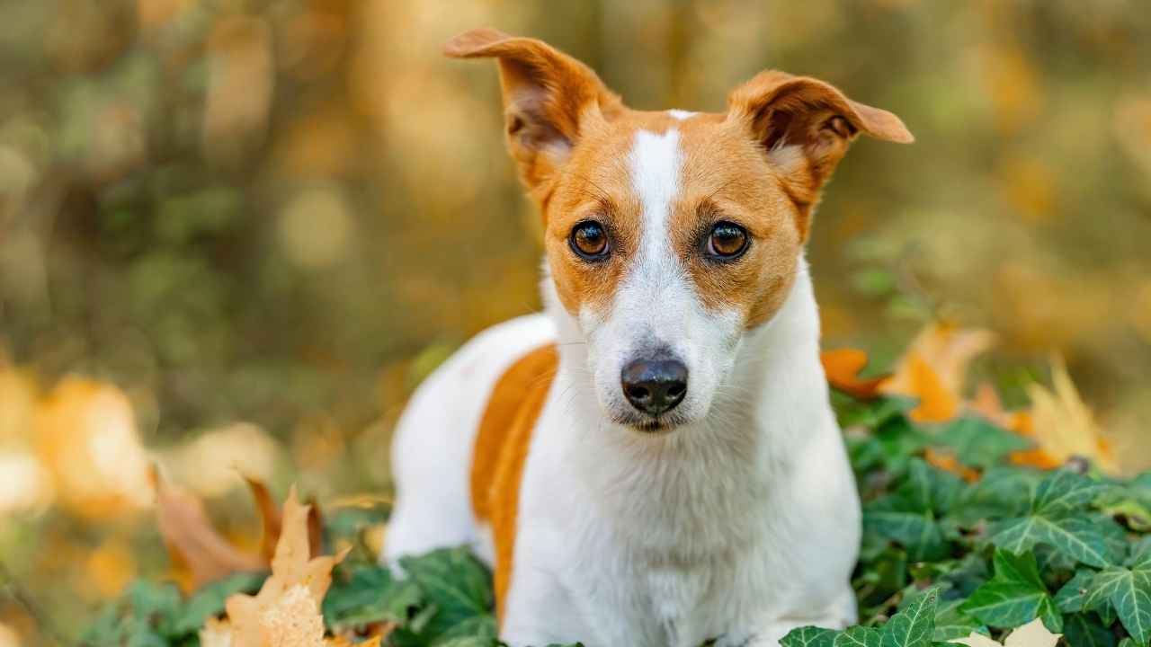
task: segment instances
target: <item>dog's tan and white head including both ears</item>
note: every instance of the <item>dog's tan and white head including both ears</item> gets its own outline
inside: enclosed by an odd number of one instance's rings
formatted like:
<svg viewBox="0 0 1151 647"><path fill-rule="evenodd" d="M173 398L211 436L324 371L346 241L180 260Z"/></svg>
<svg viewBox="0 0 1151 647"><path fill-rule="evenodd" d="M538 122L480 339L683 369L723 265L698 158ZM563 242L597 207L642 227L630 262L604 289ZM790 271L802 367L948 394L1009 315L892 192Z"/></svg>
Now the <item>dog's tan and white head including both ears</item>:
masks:
<svg viewBox="0 0 1151 647"><path fill-rule="evenodd" d="M508 146L544 219L550 277L588 347L609 418L702 418L745 332L786 299L820 190L859 134L895 115L808 77L764 71L724 114L640 112L584 63L495 30L445 46L496 58Z"/></svg>

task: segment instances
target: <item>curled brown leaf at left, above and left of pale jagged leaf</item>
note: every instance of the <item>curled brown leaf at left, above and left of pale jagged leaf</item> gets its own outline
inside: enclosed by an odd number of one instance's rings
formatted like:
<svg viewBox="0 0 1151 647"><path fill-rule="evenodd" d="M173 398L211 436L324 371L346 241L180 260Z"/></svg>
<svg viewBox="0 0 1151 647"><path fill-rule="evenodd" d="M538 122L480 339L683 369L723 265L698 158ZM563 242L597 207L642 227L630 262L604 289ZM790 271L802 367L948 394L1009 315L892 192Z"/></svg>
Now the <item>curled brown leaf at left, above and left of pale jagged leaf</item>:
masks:
<svg viewBox="0 0 1151 647"><path fill-rule="evenodd" d="M259 555L242 551L228 542L212 525L204 503L163 481L159 472L151 473L160 536L168 553L186 566L186 589L218 580L235 572L259 571L267 562Z"/></svg>

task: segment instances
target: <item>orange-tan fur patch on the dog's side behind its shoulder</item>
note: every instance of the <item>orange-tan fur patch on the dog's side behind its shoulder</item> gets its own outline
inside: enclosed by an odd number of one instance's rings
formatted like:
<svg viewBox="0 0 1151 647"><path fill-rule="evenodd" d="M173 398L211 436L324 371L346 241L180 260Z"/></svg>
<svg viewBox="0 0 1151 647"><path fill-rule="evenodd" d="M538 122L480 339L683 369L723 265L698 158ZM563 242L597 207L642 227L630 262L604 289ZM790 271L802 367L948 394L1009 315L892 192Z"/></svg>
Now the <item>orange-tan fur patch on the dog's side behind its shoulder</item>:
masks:
<svg viewBox="0 0 1151 647"><path fill-rule="evenodd" d="M558 365L556 345L548 344L525 355L500 376L472 452L472 510L477 519L490 524L495 539L496 617L501 621L511 583L519 484L532 431Z"/></svg>

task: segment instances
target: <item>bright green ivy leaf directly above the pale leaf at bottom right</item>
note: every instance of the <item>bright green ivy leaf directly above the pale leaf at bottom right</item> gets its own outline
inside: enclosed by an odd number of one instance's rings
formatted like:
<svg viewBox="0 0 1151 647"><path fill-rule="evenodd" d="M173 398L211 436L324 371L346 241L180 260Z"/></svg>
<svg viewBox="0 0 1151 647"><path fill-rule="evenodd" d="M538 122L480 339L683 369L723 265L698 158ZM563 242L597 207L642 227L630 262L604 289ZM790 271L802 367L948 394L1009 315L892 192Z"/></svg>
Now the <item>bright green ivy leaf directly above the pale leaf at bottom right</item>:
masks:
<svg viewBox="0 0 1151 647"><path fill-rule="evenodd" d="M1041 618L1052 632L1062 631L1062 614L1039 577L1032 553L1013 555L997 550L994 571L994 577L960 607L961 611L999 629L1013 629Z"/></svg>

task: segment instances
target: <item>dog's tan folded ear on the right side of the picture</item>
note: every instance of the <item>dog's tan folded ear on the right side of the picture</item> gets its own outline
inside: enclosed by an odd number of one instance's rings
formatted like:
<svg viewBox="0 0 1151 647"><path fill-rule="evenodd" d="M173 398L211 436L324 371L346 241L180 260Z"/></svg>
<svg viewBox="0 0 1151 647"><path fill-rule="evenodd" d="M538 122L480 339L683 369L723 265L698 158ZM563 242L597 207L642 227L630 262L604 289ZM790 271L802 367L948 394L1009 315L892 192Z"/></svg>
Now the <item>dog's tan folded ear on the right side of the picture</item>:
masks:
<svg viewBox="0 0 1151 647"><path fill-rule="evenodd" d="M762 71L733 90L727 119L741 122L780 169L805 239L820 190L860 132L901 144L915 140L887 111L852 101L822 81L777 70Z"/></svg>

